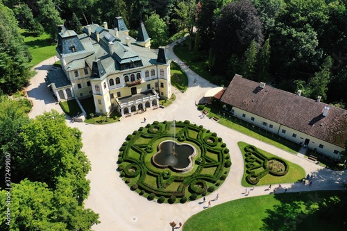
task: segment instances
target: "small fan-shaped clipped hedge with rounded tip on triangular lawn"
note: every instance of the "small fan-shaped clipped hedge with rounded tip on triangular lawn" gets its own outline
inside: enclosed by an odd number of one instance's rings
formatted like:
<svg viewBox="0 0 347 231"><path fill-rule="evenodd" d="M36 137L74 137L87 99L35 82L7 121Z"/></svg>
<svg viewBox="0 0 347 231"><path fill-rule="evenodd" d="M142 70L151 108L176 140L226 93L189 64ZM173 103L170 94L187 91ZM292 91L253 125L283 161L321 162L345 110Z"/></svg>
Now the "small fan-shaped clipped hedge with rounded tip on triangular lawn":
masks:
<svg viewBox="0 0 347 231"><path fill-rule="evenodd" d="M256 185L266 174L273 176L285 176L289 171L289 164L279 157L268 158L255 146L248 145L244 148L244 162L246 168L246 180L251 185Z"/></svg>

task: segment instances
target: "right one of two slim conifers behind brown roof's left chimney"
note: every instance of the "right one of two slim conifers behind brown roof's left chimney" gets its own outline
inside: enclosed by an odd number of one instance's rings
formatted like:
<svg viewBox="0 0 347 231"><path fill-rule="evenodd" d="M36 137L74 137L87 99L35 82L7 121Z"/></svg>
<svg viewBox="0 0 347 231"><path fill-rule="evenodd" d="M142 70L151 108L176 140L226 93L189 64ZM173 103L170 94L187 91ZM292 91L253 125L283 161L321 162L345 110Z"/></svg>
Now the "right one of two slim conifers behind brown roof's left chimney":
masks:
<svg viewBox="0 0 347 231"><path fill-rule="evenodd" d="M266 82L269 80L269 69L270 69L270 37L268 37L264 45L262 46L262 51L260 51L259 58L257 60L257 80L258 82Z"/></svg>

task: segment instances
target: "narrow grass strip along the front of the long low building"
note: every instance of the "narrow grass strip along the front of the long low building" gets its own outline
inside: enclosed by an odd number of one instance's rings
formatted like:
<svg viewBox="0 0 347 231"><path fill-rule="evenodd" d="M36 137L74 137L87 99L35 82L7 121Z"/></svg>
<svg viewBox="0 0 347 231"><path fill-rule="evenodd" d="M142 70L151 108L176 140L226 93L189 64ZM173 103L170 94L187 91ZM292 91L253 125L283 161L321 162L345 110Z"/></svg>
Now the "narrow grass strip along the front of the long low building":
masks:
<svg viewBox="0 0 347 231"><path fill-rule="evenodd" d="M272 132L263 130L257 126L252 126L251 123L247 123L246 121L242 121L242 119L237 119L230 114L221 112L217 105L205 105L203 110L207 110L209 112L208 118L219 118L218 123L221 123L223 126L242 132L245 135L259 139L262 142L276 146L277 148L289 153L296 155L301 148L299 144L290 142L289 140L273 134Z"/></svg>

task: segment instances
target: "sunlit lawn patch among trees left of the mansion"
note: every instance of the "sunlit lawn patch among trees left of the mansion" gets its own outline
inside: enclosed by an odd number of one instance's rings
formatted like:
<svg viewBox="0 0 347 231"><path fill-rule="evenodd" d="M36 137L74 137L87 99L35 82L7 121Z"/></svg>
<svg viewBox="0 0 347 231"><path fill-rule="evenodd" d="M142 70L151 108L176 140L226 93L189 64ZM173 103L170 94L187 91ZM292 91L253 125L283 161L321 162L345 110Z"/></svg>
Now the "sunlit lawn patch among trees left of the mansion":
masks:
<svg viewBox="0 0 347 231"><path fill-rule="evenodd" d="M19 32L24 37L24 43L28 46L31 56L33 56L30 65L38 65L43 60L51 58L57 54L57 44L51 40L48 34L43 33L39 37L33 37L31 34L26 33L24 29L20 29Z"/></svg>

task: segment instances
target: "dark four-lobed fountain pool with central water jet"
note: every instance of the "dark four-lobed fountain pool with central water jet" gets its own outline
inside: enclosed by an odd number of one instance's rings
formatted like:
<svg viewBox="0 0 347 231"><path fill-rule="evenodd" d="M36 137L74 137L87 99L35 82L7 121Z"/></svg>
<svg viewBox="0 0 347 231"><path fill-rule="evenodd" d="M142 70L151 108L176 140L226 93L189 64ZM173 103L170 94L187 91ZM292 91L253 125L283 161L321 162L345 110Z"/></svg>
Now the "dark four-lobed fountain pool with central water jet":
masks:
<svg viewBox="0 0 347 231"><path fill-rule="evenodd" d="M152 157L156 166L174 171L189 171L193 166L193 158L196 155L196 148L191 144L178 144L176 139L176 123L173 121L174 140L166 140L158 146L158 152Z"/></svg>

